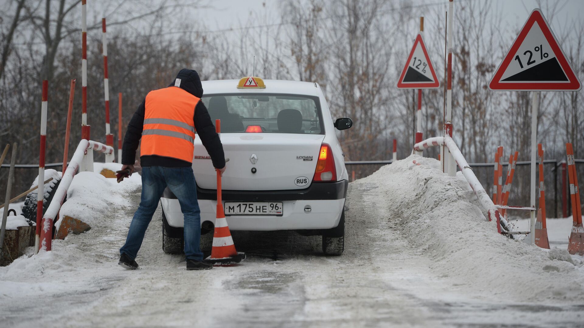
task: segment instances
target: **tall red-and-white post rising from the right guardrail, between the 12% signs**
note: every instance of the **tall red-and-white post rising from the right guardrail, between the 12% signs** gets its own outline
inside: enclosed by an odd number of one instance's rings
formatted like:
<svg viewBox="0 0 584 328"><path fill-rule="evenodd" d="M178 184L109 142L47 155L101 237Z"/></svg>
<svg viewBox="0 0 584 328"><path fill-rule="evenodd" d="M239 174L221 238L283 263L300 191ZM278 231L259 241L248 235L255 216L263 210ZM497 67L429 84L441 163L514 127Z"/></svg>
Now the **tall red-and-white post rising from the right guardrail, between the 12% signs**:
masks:
<svg viewBox="0 0 584 328"><path fill-rule="evenodd" d="M448 67L446 82L446 117L444 118L444 136L452 137L452 21L454 18L453 0L448 4ZM456 162L450 150L444 147L444 173L456 176Z"/></svg>

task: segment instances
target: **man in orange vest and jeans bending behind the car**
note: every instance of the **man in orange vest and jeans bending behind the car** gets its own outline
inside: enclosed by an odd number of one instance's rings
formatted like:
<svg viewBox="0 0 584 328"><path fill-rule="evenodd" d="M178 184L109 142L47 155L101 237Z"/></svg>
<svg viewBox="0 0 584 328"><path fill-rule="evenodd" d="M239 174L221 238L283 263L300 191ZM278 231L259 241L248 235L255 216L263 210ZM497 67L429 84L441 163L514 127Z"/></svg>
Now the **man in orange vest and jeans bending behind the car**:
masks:
<svg viewBox="0 0 584 328"><path fill-rule="evenodd" d="M134 259L166 187L178 198L185 217L187 270L213 267L203 261L199 247L201 217L192 169L195 131L211 156L213 166L222 174L225 155L207 108L201 102L202 96L199 74L192 69L181 69L167 88L148 93L128 124L122 148L122 170L133 172L141 139L142 197L126 243L120 249L119 264L124 268L138 268Z"/></svg>

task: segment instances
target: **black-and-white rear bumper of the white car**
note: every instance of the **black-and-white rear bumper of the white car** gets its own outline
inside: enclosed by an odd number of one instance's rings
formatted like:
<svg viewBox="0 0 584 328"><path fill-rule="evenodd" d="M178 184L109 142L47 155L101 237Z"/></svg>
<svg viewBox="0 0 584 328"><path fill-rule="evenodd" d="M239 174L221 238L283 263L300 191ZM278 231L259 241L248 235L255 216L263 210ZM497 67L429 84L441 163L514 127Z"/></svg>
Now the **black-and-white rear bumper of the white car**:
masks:
<svg viewBox="0 0 584 328"><path fill-rule="evenodd" d="M227 222L232 230L297 230L331 229L339 225L345 205L347 180L334 183L313 183L303 190L223 191L223 201L281 201L283 215L230 215ZM217 194L215 190L197 188L201 224L215 223ZM183 214L176 197L167 189L161 198L162 210L168 224L182 227ZM310 208L310 211L305 210Z"/></svg>

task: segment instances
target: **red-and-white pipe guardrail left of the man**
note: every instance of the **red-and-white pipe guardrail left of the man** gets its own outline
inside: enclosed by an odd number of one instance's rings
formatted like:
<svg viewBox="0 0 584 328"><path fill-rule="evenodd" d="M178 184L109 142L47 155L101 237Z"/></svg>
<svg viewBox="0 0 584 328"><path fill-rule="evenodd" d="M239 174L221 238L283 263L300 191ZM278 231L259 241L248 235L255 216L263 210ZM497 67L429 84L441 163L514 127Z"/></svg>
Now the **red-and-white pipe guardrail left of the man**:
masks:
<svg viewBox="0 0 584 328"><path fill-rule="evenodd" d="M67 196L67 190L69 189L69 186L71 186L73 177L75 176L75 173L77 173L81 163L89 158L93 158L93 156L84 156L86 152L91 151L98 151L107 155L113 154L114 150L112 146L106 146L100 142L92 140L82 139L79 142L79 145L77 146L77 149L75 149L75 153L71 158L71 162L69 162L69 165L67 166L67 170L63 173L61 183L57 187L57 191L55 191L53 201L48 205L47 211L44 213L43 219L41 220L40 245L35 245L36 251L39 250L39 246L40 249L51 250L54 219L57 217L57 213L65 200L65 196ZM93 165L93 163L91 163L91 165ZM39 224L39 222L37 222L37 224Z"/></svg>

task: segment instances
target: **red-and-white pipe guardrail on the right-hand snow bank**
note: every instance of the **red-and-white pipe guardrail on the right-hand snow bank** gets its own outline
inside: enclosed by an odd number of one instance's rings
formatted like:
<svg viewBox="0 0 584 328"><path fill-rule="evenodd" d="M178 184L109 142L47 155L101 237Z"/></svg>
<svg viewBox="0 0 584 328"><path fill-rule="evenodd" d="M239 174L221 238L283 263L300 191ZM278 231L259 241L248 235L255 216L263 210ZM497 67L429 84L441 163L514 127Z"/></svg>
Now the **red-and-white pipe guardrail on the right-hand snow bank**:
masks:
<svg viewBox="0 0 584 328"><path fill-rule="evenodd" d="M454 160L456 160L456 163L463 173L465 179L467 179L468 184L477 195L479 203L481 203L482 207L488 212L488 218L485 218L485 221L492 221L494 219L497 221L497 231L499 233L502 233L503 230L505 231L503 233L510 235L511 238L515 239L515 234L509 234L509 223L499 214L499 210L497 210L496 205L486 193L485 189L478 181L477 176L475 176L474 172L472 172L472 169L470 165L468 165L467 160L464 159L463 153L460 151L450 136L447 135L446 137L428 138L415 144L413 149L416 151L422 151L424 149L430 148L431 146L442 145L443 143L449 149L450 153L454 157Z"/></svg>

